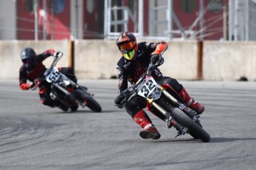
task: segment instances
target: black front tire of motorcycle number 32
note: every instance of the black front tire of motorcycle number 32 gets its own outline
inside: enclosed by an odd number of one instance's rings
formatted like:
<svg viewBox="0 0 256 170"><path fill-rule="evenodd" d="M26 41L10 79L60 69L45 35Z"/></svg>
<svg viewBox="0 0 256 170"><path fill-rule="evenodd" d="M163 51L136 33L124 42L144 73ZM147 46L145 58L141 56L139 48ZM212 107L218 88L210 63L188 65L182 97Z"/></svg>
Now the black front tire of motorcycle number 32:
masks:
<svg viewBox="0 0 256 170"><path fill-rule="evenodd" d="M176 118L180 123L188 128L188 132L192 137L199 138L203 142L209 142L211 136L197 123L186 115L181 109L174 108L171 112L171 116Z"/></svg>

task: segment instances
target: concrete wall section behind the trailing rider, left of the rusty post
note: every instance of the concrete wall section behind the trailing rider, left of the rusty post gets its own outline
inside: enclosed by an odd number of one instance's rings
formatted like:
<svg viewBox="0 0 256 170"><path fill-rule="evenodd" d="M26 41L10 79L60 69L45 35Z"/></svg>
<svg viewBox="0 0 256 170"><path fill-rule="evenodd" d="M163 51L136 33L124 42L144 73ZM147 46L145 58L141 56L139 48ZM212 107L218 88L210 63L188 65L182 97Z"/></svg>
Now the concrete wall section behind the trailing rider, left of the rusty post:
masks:
<svg viewBox="0 0 256 170"><path fill-rule="evenodd" d="M51 48L60 50L64 55L58 66L68 67L69 41L0 41L0 78L19 78L24 47L32 47L38 54ZM51 61L52 58L47 58L44 64L50 66Z"/></svg>

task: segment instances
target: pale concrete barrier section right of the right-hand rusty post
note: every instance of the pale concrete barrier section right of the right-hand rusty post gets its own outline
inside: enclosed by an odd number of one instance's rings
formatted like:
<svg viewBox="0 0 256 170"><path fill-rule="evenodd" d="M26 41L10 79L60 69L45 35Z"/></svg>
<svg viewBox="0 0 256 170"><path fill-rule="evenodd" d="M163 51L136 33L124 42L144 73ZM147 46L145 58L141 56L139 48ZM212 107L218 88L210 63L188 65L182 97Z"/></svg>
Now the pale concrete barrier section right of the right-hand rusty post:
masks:
<svg viewBox="0 0 256 170"><path fill-rule="evenodd" d="M256 42L203 42L203 78L210 81L256 80Z"/></svg>

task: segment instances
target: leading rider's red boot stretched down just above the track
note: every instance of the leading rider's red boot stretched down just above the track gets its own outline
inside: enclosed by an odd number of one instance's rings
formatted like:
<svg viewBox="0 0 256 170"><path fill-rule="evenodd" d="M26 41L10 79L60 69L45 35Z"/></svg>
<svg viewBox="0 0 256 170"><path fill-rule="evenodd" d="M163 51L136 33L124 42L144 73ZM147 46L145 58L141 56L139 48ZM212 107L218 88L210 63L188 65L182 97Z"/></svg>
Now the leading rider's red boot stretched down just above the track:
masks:
<svg viewBox="0 0 256 170"><path fill-rule="evenodd" d="M157 128L152 124L150 118L148 118L148 115L143 110L140 110L134 115L134 120L143 128L140 131L140 137L144 139L159 139L161 137Z"/></svg>

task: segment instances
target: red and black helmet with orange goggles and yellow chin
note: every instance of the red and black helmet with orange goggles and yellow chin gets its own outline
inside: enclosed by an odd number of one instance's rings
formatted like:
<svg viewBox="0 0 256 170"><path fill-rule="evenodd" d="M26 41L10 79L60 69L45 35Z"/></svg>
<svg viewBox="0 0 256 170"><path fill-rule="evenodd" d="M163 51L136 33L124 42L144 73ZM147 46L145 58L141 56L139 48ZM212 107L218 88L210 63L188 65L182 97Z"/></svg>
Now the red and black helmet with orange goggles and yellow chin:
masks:
<svg viewBox="0 0 256 170"><path fill-rule="evenodd" d="M132 60L136 56L138 44L133 33L122 32L116 39L116 45L119 51L127 60Z"/></svg>

